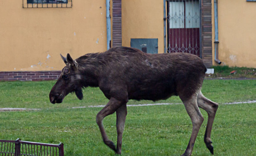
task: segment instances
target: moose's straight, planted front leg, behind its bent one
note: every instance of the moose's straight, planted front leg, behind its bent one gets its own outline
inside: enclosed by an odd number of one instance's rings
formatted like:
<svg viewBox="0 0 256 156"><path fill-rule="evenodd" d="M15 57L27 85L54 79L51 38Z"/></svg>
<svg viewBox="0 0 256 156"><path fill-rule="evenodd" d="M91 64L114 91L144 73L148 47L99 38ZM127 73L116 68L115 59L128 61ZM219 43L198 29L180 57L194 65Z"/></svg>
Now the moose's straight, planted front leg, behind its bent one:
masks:
<svg viewBox="0 0 256 156"><path fill-rule="evenodd" d="M116 154L121 154L123 129L126 121L126 115L127 115L126 105L122 105L116 110L116 132L117 132Z"/></svg>

